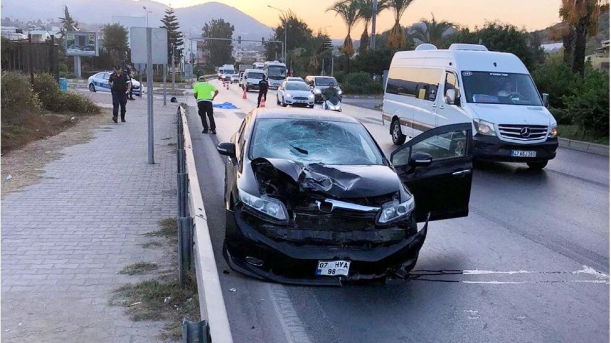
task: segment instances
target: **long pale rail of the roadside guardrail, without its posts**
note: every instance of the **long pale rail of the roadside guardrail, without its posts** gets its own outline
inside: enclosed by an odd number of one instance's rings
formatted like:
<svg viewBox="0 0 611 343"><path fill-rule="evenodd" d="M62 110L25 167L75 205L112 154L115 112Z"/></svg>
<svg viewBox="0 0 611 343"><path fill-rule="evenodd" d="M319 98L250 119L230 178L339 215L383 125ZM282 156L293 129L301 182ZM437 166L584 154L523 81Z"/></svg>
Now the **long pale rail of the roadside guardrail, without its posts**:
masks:
<svg viewBox="0 0 611 343"><path fill-rule="evenodd" d="M232 343L233 338L229 327L229 318L225 308L225 300L216 269L216 260L212 250L212 240L208 229L208 218L203 208L202 193L189 124L185 115L185 108L180 106L180 117L183 121L183 135L185 137L186 172L189 175L189 214L193 217L194 231L194 264L197 274L197 294L199 295L199 311L202 320L206 320L210 327L212 342Z"/></svg>

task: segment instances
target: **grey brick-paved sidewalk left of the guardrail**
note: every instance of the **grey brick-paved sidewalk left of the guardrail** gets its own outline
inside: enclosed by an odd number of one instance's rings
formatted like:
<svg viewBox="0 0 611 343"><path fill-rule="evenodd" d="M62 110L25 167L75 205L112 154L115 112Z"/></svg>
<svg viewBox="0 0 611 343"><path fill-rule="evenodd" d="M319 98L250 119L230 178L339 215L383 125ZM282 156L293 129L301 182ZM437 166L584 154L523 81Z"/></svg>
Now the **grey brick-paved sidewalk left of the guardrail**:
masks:
<svg viewBox="0 0 611 343"><path fill-rule="evenodd" d="M155 342L161 322L109 306L115 274L138 261L173 267L143 233L176 215L176 104L155 101L155 165L147 164L146 101L127 123L108 118L90 142L65 148L40 183L2 198L2 342ZM141 278L146 278L142 276Z"/></svg>

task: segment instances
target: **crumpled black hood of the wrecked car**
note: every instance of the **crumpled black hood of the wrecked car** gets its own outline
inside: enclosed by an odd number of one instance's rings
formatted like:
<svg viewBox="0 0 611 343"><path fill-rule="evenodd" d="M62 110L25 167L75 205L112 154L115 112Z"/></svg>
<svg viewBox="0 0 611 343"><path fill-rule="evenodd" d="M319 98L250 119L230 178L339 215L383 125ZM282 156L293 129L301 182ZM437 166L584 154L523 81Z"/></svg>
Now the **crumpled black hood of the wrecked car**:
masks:
<svg viewBox="0 0 611 343"><path fill-rule="evenodd" d="M362 198L398 192L401 180L386 165L301 164L287 159L258 158L252 161L255 178L263 173L288 176L299 192L321 192L335 198Z"/></svg>

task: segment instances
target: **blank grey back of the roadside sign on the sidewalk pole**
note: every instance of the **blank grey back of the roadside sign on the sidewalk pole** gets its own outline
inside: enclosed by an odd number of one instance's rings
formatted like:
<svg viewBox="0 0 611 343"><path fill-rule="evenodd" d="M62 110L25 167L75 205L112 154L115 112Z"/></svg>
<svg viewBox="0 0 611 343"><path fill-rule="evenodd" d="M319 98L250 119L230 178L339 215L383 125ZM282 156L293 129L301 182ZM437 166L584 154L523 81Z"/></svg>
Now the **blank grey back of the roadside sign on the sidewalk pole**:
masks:
<svg viewBox="0 0 611 343"><path fill-rule="evenodd" d="M162 27L151 29L153 64L167 64L167 30ZM131 27L131 62L147 63L147 27Z"/></svg>

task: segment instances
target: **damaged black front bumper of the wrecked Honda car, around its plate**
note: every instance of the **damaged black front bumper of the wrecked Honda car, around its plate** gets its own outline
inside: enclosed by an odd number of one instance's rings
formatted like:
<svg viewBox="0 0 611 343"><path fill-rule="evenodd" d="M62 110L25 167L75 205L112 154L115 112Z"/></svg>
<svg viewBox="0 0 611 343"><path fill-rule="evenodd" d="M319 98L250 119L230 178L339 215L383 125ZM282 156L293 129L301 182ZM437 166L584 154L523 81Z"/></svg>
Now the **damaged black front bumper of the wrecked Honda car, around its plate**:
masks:
<svg viewBox="0 0 611 343"><path fill-rule="evenodd" d="M428 227L427 222L422 229L417 230L413 221L412 234L403 234L403 239L375 244L375 246L297 244L262 234L255 228L257 222L262 221L253 220L252 215L241 211L239 207L236 206L233 212L227 211L223 250L225 260L238 272L262 280L286 284L341 286L346 281L374 280L395 272L401 273L401 270L403 275L406 275L409 270L405 270L404 267L410 266L408 269L413 267L426 238ZM320 234L331 237L337 233L329 230L320 231ZM371 234L377 233L369 232L368 236ZM263 265L257 267L249 264L246 262L247 256L260 259ZM349 275L316 276L318 261L323 260L350 261Z"/></svg>

